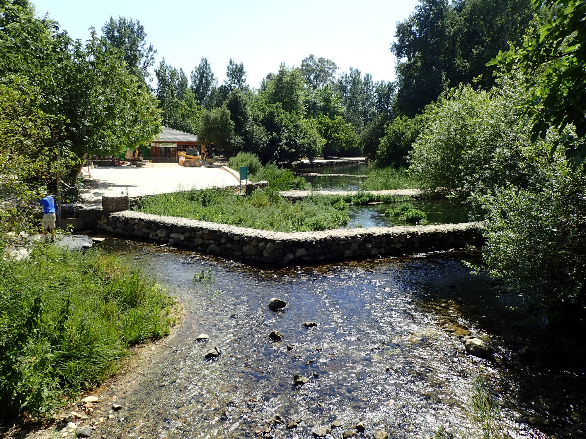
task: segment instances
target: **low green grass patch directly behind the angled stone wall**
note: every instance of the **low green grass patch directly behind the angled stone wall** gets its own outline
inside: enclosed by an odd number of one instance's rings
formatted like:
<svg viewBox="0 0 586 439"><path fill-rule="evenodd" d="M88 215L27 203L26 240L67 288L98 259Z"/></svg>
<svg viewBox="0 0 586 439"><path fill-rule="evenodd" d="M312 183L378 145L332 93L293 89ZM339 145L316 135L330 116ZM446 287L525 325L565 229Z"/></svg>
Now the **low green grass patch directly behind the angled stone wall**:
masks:
<svg viewBox="0 0 586 439"><path fill-rule="evenodd" d="M217 188L158 194L138 208L155 215L193 218L277 232L314 231L348 224L345 210L338 210L333 197L306 197L291 203L273 188L239 196Z"/></svg>

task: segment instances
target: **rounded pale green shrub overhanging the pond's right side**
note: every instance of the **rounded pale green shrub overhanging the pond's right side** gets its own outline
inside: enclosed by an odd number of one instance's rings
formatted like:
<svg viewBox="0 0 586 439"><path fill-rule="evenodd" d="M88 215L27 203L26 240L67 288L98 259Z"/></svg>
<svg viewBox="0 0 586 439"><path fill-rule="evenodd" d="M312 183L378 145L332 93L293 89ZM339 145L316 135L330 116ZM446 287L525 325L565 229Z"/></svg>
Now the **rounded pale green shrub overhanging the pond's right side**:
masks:
<svg viewBox="0 0 586 439"><path fill-rule="evenodd" d="M467 197L527 184L532 170L523 148L531 142L517 129L518 102L509 83L490 92L465 85L440 97L410 153L421 188Z"/></svg>

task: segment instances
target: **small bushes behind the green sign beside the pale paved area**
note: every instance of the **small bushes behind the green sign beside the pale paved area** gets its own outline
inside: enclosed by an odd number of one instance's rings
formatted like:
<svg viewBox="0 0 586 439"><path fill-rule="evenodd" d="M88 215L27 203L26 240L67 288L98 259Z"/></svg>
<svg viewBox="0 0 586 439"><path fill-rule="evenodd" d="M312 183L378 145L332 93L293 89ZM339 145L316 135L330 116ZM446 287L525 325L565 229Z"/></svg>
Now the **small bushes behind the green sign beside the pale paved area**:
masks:
<svg viewBox="0 0 586 439"><path fill-rule="evenodd" d="M236 156L230 157L228 166L235 171L239 171L240 166L248 166L250 181L268 181L268 186L272 189L283 191L311 188L309 181L295 176L291 169L278 167L274 162L263 166L258 156L248 152L239 152Z"/></svg>

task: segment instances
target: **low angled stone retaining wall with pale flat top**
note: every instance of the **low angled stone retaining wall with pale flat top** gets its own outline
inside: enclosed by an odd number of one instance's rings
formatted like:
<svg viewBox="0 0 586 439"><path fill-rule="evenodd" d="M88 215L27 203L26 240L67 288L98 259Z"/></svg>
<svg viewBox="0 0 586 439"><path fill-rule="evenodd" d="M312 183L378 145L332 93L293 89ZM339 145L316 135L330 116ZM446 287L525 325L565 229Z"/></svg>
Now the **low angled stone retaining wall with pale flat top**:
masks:
<svg viewBox="0 0 586 439"><path fill-rule="evenodd" d="M102 211L97 223L98 229L128 238L281 264L455 249L482 241L479 222L284 233L134 211Z"/></svg>

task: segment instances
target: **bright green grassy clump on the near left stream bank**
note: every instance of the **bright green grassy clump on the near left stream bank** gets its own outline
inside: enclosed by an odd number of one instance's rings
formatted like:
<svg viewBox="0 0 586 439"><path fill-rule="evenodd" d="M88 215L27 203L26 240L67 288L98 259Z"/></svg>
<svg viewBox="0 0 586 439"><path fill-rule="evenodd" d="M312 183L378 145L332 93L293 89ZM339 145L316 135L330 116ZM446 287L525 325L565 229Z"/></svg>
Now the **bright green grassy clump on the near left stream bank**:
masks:
<svg viewBox="0 0 586 439"><path fill-rule="evenodd" d="M174 303L99 249L0 260L0 414L39 416L99 385L132 344L168 334Z"/></svg>

